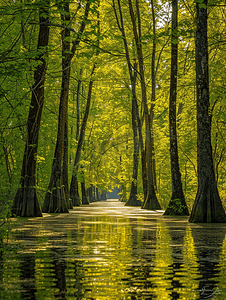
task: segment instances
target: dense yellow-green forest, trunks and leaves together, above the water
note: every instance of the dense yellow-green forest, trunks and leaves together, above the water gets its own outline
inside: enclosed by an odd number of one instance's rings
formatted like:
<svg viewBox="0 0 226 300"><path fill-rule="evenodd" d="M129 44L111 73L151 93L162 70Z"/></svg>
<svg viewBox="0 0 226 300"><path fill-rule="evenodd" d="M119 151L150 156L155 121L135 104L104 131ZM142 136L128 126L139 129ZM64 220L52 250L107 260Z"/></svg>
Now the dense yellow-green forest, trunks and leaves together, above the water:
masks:
<svg viewBox="0 0 226 300"><path fill-rule="evenodd" d="M0 0L0 204L225 222L225 0Z"/></svg>

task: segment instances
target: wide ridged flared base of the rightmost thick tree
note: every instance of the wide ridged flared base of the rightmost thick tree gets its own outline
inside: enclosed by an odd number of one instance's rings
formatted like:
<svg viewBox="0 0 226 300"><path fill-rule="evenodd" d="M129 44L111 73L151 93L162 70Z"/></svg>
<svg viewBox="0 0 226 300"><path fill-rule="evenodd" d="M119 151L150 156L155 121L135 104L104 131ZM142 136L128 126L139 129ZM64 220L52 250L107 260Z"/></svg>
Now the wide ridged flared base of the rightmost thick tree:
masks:
<svg viewBox="0 0 226 300"><path fill-rule="evenodd" d="M208 178L200 184L189 219L191 223L226 223L217 184Z"/></svg>

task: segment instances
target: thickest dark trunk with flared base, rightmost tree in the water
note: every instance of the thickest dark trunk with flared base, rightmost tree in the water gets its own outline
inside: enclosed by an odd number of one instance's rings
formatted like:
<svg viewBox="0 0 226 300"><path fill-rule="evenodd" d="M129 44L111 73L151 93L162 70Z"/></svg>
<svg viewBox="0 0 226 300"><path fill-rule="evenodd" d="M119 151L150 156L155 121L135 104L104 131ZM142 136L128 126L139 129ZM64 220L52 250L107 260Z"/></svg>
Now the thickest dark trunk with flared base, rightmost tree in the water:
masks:
<svg viewBox="0 0 226 300"><path fill-rule="evenodd" d="M207 0L202 5L207 6ZM197 154L199 186L189 221L194 223L226 222L225 211L215 180L209 116L209 71L207 8L197 6L196 89Z"/></svg>

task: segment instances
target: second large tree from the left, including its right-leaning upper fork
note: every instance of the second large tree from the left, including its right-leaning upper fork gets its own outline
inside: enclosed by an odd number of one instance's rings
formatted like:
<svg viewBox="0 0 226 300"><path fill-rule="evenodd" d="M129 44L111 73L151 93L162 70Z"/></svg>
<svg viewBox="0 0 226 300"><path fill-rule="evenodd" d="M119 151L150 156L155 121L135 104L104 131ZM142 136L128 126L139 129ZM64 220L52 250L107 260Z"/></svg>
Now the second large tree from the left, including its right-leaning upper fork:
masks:
<svg viewBox="0 0 226 300"><path fill-rule="evenodd" d="M79 6L80 7L80 6ZM67 157L65 149L65 139L67 139L67 118L68 118L68 95L69 95L69 83L70 83L70 70L71 61L77 50L77 46L81 41L81 36L85 30L86 21L90 10L90 1L87 0L84 12L84 18L79 28L77 38L73 41L73 45L70 49L70 42L68 41L69 28L68 22L70 21L69 2L65 1L59 3L59 9L61 11L61 18L63 21L62 31L62 82L61 82L61 95L60 106L58 116L58 132L57 141L54 152L54 159L52 164L52 170L50 175L50 181L48 190L45 195L43 204L43 212L68 212L67 199L65 197L64 184L67 182L65 178L65 170L63 170L63 157ZM67 159L67 158L66 158ZM67 166L64 165L67 168Z"/></svg>

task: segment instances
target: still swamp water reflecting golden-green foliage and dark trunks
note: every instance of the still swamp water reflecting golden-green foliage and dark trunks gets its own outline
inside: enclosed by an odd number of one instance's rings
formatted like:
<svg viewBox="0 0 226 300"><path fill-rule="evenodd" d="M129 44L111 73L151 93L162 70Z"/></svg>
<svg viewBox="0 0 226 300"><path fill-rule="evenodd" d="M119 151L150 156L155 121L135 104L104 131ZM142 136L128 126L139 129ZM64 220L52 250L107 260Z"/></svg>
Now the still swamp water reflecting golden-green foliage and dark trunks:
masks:
<svg viewBox="0 0 226 300"><path fill-rule="evenodd" d="M0 299L226 299L226 224L116 200L13 227Z"/></svg>

